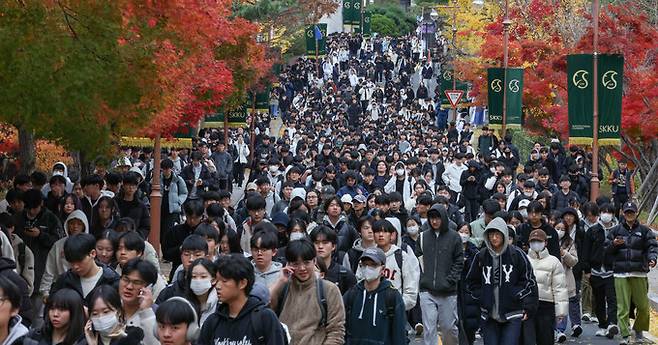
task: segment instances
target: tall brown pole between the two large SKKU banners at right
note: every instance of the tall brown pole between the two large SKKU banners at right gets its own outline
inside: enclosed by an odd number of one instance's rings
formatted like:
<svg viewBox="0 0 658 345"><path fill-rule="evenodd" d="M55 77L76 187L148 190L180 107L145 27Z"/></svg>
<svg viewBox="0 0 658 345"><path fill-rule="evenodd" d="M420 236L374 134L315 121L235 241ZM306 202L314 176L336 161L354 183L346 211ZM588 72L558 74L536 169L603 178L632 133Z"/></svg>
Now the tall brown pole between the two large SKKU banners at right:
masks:
<svg viewBox="0 0 658 345"><path fill-rule="evenodd" d="M592 186L590 188L590 201L595 202L599 197L599 0L593 1L592 18L594 20L594 66L592 68L592 92L594 93L593 119L592 119Z"/></svg>

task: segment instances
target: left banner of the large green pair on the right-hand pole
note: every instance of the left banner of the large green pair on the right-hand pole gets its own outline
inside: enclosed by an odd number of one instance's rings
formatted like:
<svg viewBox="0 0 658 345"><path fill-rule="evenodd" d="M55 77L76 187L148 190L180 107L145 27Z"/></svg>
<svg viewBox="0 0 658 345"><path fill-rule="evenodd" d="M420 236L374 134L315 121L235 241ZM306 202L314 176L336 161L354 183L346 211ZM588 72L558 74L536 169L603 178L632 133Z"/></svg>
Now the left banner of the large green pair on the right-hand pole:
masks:
<svg viewBox="0 0 658 345"><path fill-rule="evenodd" d="M569 142L592 144L594 116L593 60L590 54L567 56Z"/></svg>

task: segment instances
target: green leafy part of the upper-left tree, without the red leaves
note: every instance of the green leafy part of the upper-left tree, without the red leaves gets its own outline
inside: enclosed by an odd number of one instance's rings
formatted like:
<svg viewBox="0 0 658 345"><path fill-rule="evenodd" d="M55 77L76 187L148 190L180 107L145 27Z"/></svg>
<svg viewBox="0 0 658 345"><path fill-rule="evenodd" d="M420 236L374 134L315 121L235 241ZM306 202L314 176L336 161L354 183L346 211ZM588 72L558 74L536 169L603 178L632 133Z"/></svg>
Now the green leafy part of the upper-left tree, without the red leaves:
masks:
<svg viewBox="0 0 658 345"><path fill-rule="evenodd" d="M145 125L150 109L134 105L142 83L154 78L154 64L148 49L119 44L125 32L117 23L121 12L113 1L81 2L76 11L4 1L0 121L87 152L107 148L111 133L126 126L121 119L132 128Z"/></svg>

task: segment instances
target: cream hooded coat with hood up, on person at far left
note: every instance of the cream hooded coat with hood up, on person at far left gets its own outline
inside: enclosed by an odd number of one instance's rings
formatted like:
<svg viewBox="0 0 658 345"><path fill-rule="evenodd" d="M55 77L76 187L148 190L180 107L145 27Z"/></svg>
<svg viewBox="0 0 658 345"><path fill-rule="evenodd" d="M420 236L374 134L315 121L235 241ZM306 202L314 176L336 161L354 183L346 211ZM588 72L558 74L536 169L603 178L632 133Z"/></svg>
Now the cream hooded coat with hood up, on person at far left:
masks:
<svg viewBox="0 0 658 345"><path fill-rule="evenodd" d="M48 257L46 258L46 269L41 278L41 284L39 285L39 292L41 292L42 296L48 296L50 287L54 280L69 269L69 263L66 261L66 258L64 258L64 242L66 242L66 239L70 235L68 225L72 219L80 220L82 224L84 224L84 230L82 230L82 232L89 233L89 223L87 222L87 216L85 216L85 213L82 212L82 210L74 210L71 212L64 222L65 236L57 240L48 252Z"/></svg>

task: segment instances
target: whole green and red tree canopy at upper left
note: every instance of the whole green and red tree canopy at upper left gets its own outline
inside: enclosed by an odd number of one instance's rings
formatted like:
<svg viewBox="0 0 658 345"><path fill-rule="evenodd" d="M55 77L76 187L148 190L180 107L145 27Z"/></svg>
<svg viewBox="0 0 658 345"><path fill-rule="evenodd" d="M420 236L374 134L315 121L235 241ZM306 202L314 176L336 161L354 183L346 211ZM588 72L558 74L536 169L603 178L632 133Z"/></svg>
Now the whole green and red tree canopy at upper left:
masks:
<svg viewBox="0 0 658 345"><path fill-rule="evenodd" d="M270 68L230 0L21 0L0 4L0 121L69 150L170 135Z"/></svg>

